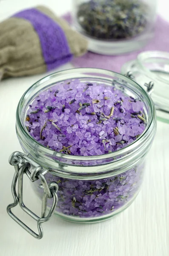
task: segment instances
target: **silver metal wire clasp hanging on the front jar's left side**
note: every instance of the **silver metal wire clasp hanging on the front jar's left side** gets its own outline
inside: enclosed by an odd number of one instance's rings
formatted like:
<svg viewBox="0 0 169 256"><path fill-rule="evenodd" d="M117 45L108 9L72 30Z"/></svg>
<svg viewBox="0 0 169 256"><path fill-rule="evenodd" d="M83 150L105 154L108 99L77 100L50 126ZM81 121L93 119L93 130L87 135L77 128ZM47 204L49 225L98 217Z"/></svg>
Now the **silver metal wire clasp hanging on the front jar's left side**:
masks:
<svg viewBox="0 0 169 256"><path fill-rule="evenodd" d="M56 182L47 183L46 178L44 177L44 174L49 172L50 171L49 169L43 169L31 158L27 157L25 154L21 152L14 152L13 154L11 154L11 156L9 157L9 163L15 168L14 178L11 186L14 203L9 204L9 206L7 207L7 212L9 216L11 216L11 218L14 219L14 221L16 221L21 227L23 227L32 236L34 236L36 239L41 239L43 237L42 223L50 220L57 205L58 185ZM32 169L32 172L30 172L31 169ZM41 217L38 217L36 214L34 214L34 212L32 212L23 204L23 175L25 173L32 182L38 179L40 179L41 181L41 184L39 185L39 187L43 189ZM17 180L18 180L18 193L16 192ZM48 198L53 198L53 202L52 202L52 207L49 210L48 215L46 216ZM32 218L34 218L34 220L37 221L37 229L39 234L31 230L26 224L24 224L19 218L17 218L17 216L14 215L13 212L11 212L11 208L17 206L18 203L20 207L28 215L30 215Z"/></svg>

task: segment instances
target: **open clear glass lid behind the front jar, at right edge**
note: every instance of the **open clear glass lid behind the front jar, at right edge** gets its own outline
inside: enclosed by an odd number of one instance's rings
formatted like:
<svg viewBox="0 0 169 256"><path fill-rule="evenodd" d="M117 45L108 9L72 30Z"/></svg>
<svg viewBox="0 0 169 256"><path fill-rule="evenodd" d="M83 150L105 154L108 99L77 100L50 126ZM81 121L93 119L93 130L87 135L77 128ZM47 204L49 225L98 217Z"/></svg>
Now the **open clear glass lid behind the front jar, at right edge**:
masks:
<svg viewBox="0 0 169 256"><path fill-rule="evenodd" d="M151 94L158 119L169 123L169 52L141 52L123 65L121 73Z"/></svg>

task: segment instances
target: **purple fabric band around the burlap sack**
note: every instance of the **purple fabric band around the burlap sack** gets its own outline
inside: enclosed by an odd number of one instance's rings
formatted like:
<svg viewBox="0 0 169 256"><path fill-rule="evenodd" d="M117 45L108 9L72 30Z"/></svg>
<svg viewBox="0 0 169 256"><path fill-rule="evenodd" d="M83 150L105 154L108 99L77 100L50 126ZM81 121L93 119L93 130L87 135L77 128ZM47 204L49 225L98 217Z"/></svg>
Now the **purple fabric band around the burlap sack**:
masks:
<svg viewBox="0 0 169 256"><path fill-rule="evenodd" d="M13 17L28 20L34 27L48 71L71 61L72 54L66 36L54 20L34 8L18 12Z"/></svg>

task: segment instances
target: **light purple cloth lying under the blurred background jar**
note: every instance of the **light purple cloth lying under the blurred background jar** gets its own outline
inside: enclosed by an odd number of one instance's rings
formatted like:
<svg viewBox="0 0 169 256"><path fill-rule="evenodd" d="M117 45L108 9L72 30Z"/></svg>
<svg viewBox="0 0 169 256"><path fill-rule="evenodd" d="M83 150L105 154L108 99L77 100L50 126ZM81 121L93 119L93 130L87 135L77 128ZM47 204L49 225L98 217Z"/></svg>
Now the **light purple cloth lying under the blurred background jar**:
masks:
<svg viewBox="0 0 169 256"><path fill-rule="evenodd" d="M70 14L64 15L64 18L71 23ZM96 67L120 73L124 63L136 59L140 52L153 50L169 52L169 23L159 16L155 26L155 37L146 45L146 47L143 47L139 51L120 56L107 56L87 52L82 57L74 58L72 64L75 67Z"/></svg>

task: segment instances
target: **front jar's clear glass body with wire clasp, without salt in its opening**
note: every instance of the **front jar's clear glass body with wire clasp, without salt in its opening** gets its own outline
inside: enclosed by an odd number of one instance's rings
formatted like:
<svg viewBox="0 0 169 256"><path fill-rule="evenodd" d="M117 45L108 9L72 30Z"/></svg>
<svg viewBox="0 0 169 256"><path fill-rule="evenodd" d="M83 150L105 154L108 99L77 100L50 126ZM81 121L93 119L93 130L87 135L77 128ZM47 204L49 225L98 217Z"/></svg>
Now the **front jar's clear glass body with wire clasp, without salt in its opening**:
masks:
<svg viewBox="0 0 169 256"><path fill-rule="evenodd" d="M118 151L91 157L61 154L35 141L25 126L29 105L41 91L57 82L77 78L84 82L97 81L108 86L116 86L126 95L144 102L143 111L147 121L143 134L134 143ZM143 179L144 159L155 137L155 106L146 91L126 76L94 68L65 70L41 79L24 93L17 107L16 131L24 154L15 152L9 160L15 166L16 172L12 185L15 203L8 207L8 212L29 233L41 238L43 233L40 226L38 226L40 235L37 235L20 223L11 212L17 200L20 206L37 220L38 225L46 221L46 218L49 220L49 215L44 218L47 198L52 197L48 200L50 216L54 212L54 204L57 203L55 213L66 220L76 222L106 220L126 209L134 201ZM35 181L34 190L43 199L41 218L34 216L29 209L25 209L22 196L19 199L17 197L16 181L18 178L19 184L22 184L24 172ZM22 185L19 186L18 194L22 195Z"/></svg>

